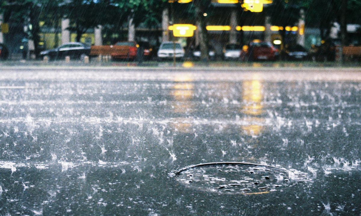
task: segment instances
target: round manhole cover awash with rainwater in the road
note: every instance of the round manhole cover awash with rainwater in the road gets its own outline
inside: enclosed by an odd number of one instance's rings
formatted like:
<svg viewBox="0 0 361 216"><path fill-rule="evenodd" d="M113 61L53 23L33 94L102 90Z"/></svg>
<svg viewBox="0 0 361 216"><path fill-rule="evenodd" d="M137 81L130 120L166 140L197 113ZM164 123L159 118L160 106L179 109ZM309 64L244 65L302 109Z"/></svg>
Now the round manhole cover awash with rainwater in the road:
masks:
<svg viewBox="0 0 361 216"><path fill-rule="evenodd" d="M264 194L307 181L305 173L240 162L203 163L173 174L189 188L216 193Z"/></svg>

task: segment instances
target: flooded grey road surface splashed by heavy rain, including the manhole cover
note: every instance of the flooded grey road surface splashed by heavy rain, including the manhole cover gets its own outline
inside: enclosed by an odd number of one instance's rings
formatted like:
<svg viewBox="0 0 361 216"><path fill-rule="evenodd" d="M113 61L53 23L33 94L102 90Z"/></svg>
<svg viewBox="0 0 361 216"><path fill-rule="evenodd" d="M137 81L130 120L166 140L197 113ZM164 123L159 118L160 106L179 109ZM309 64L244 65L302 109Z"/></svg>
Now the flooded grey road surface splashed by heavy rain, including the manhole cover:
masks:
<svg viewBox="0 0 361 216"><path fill-rule="evenodd" d="M0 215L359 216L360 77L3 71Z"/></svg>

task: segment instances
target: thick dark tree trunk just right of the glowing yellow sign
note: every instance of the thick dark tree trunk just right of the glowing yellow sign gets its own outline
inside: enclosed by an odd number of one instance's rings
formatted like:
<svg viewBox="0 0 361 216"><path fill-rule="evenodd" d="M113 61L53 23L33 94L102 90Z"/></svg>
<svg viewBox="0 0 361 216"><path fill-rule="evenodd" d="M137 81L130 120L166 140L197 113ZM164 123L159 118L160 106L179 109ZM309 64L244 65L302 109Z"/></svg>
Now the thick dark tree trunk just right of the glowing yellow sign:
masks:
<svg viewBox="0 0 361 216"><path fill-rule="evenodd" d="M201 51L201 60L208 62L208 35L206 30L206 17L203 15L204 5L201 3L201 0L195 0L194 6L196 9L196 26L199 34L199 47Z"/></svg>

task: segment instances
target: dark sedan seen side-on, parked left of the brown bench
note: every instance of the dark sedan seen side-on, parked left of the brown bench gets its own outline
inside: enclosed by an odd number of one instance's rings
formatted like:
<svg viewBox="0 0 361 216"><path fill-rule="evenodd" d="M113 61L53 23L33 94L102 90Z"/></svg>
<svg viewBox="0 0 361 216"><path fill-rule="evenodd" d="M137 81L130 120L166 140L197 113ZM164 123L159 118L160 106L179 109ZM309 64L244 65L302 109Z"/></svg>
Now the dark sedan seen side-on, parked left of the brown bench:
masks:
<svg viewBox="0 0 361 216"><path fill-rule="evenodd" d="M40 57L48 57L49 60L63 59L69 56L71 59L84 58L90 54L90 46L81 42L70 42L55 49L40 52Z"/></svg>

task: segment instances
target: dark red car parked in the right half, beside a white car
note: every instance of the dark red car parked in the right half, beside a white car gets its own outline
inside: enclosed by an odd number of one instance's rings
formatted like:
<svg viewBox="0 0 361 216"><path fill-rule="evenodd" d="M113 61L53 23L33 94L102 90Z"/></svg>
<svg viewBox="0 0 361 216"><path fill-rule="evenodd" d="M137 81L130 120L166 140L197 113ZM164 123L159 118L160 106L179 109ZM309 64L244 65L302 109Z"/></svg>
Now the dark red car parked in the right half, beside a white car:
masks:
<svg viewBox="0 0 361 216"><path fill-rule="evenodd" d="M277 60L279 51L270 42L251 42L242 50L242 60Z"/></svg>

